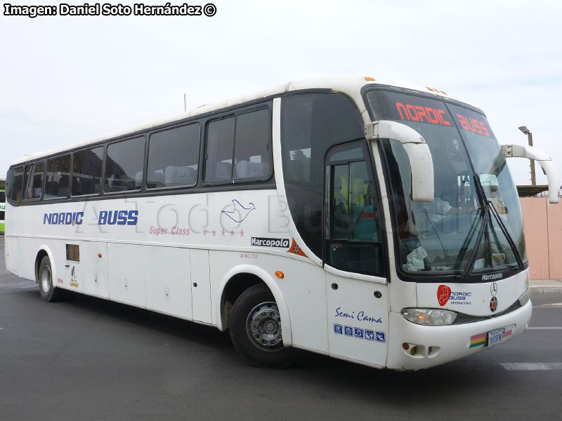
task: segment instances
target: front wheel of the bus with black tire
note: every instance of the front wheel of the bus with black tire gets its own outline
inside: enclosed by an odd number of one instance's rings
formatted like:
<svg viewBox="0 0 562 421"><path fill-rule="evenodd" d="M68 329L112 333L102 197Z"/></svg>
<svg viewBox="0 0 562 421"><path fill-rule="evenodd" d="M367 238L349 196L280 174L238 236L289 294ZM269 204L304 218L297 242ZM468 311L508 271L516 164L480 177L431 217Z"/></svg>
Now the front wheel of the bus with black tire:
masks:
<svg viewBox="0 0 562 421"><path fill-rule="evenodd" d="M252 366L285 368L301 357L298 349L283 346L279 309L271 291L261 284L245 290L234 303L230 339Z"/></svg>

